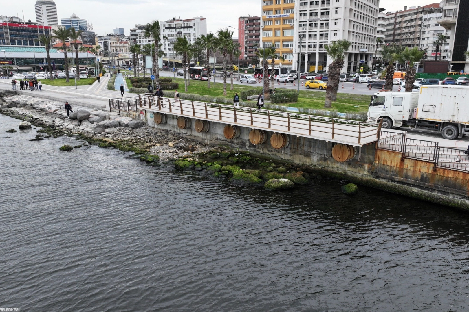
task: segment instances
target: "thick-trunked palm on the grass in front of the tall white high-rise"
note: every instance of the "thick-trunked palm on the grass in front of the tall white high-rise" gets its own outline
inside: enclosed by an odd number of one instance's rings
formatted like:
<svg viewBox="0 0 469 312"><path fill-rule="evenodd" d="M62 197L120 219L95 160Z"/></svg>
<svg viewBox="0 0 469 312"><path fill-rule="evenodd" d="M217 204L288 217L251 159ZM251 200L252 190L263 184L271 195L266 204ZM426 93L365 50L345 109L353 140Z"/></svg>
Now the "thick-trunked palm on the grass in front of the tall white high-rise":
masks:
<svg viewBox="0 0 469 312"><path fill-rule="evenodd" d="M342 67L344 67L344 53L352 43L348 40L333 41L325 45L327 56L332 58L332 63L327 66L327 88L325 93L324 108L331 108L332 102L337 100L337 91L339 90L339 77Z"/></svg>

